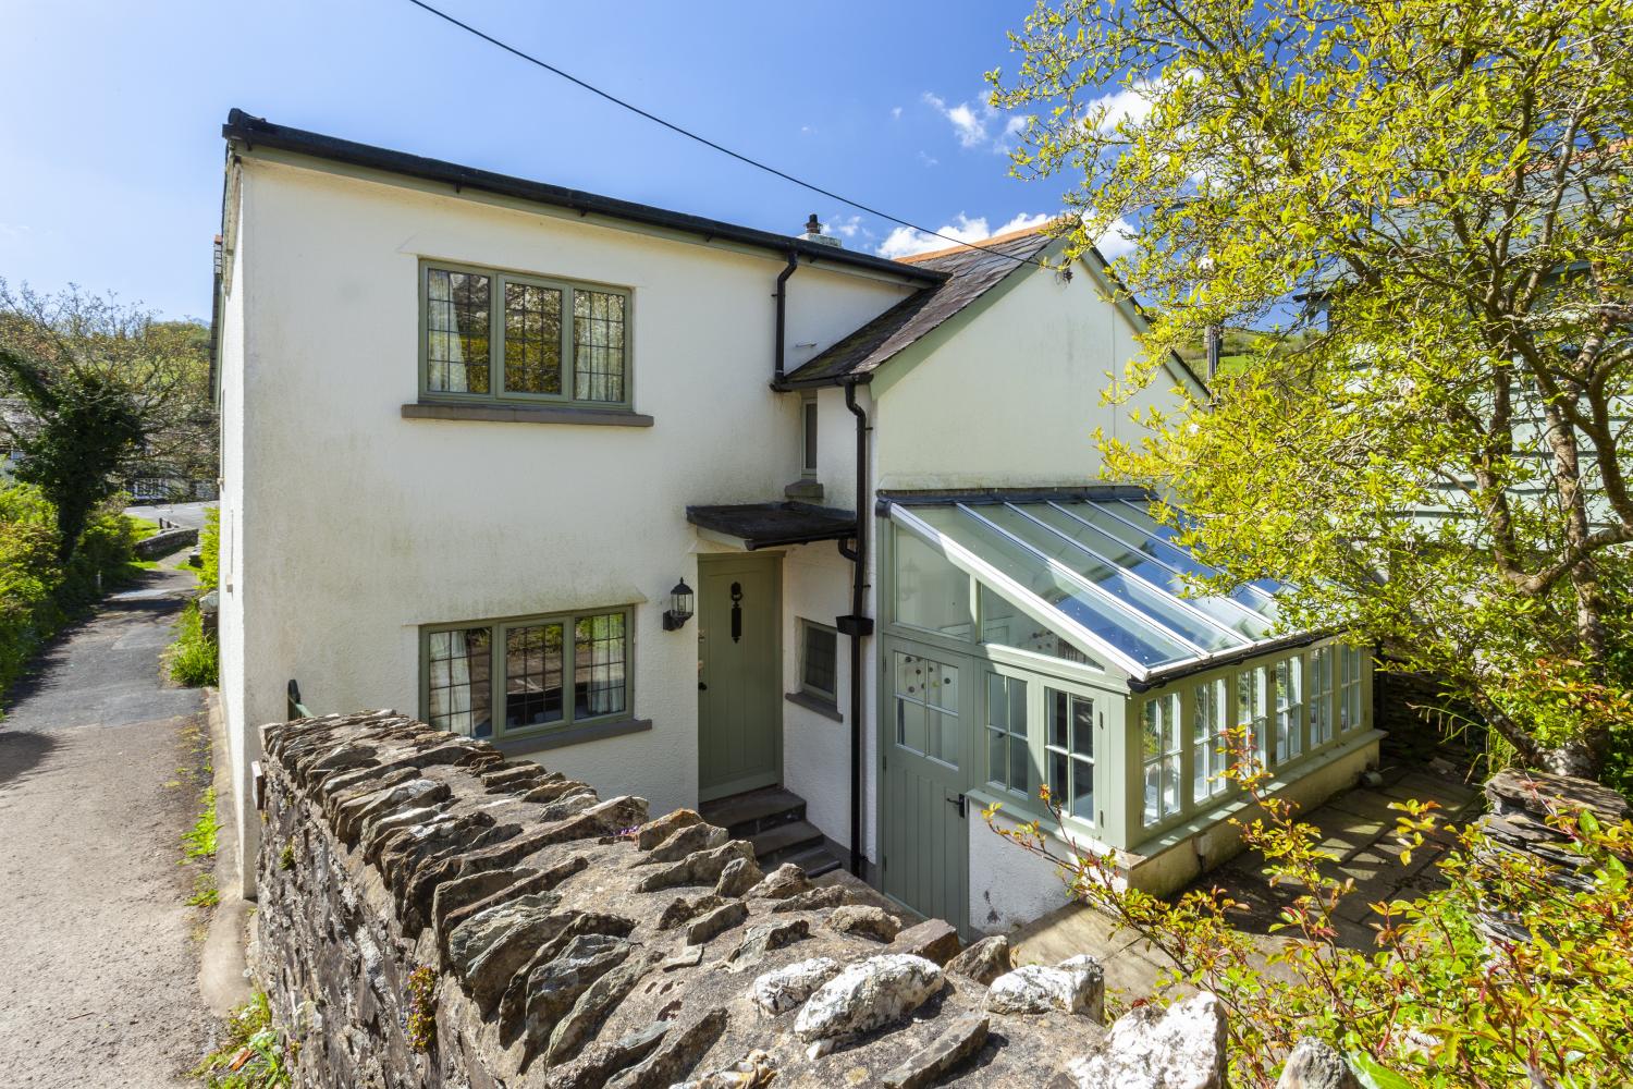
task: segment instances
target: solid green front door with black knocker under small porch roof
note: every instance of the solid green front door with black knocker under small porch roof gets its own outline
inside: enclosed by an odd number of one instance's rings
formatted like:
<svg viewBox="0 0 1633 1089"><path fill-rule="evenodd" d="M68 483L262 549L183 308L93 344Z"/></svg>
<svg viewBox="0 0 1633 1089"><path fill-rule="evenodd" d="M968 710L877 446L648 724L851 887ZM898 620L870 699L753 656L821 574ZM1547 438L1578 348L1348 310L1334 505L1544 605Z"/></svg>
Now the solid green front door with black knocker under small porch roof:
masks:
<svg viewBox="0 0 1633 1089"><path fill-rule="evenodd" d="M697 557L697 797L782 782L776 555Z"/></svg>

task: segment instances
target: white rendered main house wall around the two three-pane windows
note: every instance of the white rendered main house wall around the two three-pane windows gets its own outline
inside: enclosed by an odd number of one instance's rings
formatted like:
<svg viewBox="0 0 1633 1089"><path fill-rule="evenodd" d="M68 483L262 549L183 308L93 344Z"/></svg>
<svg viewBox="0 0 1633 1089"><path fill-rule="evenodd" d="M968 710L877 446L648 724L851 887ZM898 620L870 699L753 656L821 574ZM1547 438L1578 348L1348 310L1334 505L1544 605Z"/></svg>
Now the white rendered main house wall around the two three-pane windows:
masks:
<svg viewBox="0 0 1633 1089"><path fill-rule="evenodd" d="M661 630L663 594L696 585L686 504L781 498L799 475L797 398L768 389L782 260L253 155L243 178L229 728L281 718L289 678L314 712L416 712L423 624L634 604L634 712L653 728L539 759L655 811L694 805L696 630ZM656 424L402 420L421 256L629 287L635 410ZM802 268L790 340L828 343L905 291Z"/></svg>

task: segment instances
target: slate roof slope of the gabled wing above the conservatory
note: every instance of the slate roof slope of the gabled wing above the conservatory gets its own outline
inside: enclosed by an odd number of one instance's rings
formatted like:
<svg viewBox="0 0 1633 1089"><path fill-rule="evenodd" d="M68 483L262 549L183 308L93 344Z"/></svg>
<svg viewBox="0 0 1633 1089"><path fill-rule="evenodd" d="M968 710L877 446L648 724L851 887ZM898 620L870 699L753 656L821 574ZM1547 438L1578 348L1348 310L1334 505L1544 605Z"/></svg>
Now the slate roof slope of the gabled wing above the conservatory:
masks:
<svg viewBox="0 0 1633 1089"><path fill-rule="evenodd" d="M981 248L952 247L901 258L900 263L946 273L941 284L924 287L839 343L790 371L789 385L826 385L852 376L870 374L892 356L954 317L1011 273L1030 271L1053 237L1048 225L1017 230L981 242ZM1019 260L1016 260L1019 258Z"/></svg>

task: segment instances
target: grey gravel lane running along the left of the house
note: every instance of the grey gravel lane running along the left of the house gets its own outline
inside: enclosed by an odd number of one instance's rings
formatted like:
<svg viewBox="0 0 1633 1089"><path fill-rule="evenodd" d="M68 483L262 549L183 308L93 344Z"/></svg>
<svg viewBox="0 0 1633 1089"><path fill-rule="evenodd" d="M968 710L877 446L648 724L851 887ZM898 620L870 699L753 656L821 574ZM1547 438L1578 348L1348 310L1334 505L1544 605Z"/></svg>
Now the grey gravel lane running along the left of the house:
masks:
<svg viewBox="0 0 1633 1089"><path fill-rule="evenodd" d="M57 642L0 720L0 1086L196 1086L201 694L163 687L193 575L149 571Z"/></svg>

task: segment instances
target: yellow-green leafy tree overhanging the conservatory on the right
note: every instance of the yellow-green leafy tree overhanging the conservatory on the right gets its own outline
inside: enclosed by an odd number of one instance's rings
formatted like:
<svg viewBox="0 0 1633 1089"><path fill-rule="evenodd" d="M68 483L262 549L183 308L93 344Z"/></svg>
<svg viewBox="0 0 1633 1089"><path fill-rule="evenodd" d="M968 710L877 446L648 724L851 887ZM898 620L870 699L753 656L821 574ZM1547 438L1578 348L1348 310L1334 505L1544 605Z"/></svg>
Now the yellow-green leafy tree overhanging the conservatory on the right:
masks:
<svg viewBox="0 0 1633 1089"><path fill-rule="evenodd" d="M1633 687L1628 26L1633 0L1040 0L990 73L1030 114L1014 170L1073 186L1068 256L1138 225L1127 393L1207 327L1277 327L1212 403L1102 439L1110 472L1223 581L1292 581L1290 625L1574 774L1625 758Z"/></svg>

